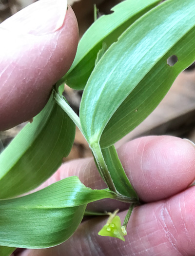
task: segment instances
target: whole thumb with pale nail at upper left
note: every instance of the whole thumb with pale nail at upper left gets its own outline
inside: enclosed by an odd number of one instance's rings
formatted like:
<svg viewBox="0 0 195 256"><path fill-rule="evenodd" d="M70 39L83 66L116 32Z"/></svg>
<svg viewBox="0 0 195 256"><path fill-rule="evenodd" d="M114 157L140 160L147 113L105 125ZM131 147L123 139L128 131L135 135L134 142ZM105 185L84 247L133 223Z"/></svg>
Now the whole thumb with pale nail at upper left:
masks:
<svg viewBox="0 0 195 256"><path fill-rule="evenodd" d="M39 0L0 24L0 130L37 115L70 68L78 25L66 5Z"/></svg>

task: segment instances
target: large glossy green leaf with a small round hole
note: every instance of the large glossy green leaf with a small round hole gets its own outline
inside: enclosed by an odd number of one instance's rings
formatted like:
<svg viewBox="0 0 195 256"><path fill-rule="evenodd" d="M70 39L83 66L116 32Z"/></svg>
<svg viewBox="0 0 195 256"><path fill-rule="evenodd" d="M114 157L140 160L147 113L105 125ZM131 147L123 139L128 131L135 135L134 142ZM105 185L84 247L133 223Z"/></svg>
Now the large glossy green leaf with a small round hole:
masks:
<svg viewBox="0 0 195 256"><path fill-rule="evenodd" d="M195 1L167 0L127 29L99 60L80 119L88 142L108 147L134 129L195 60ZM176 55L173 66L167 59ZM102 134L103 133L103 134Z"/></svg>

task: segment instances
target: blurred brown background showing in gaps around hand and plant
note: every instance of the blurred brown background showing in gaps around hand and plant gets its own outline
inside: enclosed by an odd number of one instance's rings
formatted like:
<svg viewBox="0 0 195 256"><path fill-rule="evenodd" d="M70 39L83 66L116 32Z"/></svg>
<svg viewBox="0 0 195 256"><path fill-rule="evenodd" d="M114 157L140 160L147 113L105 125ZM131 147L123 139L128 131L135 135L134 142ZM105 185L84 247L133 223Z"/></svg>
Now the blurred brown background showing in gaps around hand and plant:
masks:
<svg viewBox="0 0 195 256"><path fill-rule="evenodd" d="M20 11L36 0L0 0L0 22ZM111 8L121 0L68 0L78 19L79 36L94 21L94 4L98 8L98 17L112 13ZM64 96L78 114L81 91L65 86ZM10 130L0 132L0 150L18 134L25 123ZM188 138L195 142L195 64L182 72L174 82L166 97L153 113L137 128L117 142L116 146L145 135L172 135ZM74 158L92 156L82 134L76 131L73 149L65 161Z"/></svg>

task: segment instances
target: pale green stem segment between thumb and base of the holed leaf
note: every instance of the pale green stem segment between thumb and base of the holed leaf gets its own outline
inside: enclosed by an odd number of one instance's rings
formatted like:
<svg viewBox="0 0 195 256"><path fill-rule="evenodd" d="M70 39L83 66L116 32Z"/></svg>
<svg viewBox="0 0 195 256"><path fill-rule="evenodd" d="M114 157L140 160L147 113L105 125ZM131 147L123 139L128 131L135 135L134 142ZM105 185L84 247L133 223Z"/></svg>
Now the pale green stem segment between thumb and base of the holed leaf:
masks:
<svg viewBox="0 0 195 256"><path fill-rule="evenodd" d="M68 114L68 116L73 120L73 122L77 125L78 129L83 134L82 127L80 124L80 118L74 112L74 110L69 106L69 104L55 90L54 90L54 98L56 102L59 104L59 106L66 112L66 114Z"/></svg>

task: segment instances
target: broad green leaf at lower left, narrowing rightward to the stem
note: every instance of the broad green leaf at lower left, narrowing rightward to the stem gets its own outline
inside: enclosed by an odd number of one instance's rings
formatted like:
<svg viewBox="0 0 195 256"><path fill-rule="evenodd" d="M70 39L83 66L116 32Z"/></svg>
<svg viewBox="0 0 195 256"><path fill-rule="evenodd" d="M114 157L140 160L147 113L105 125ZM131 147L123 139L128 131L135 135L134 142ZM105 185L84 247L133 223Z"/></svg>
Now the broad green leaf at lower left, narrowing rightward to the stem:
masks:
<svg viewBox="0 0 195 256"><path fill-rule="evenodd" d="M78 228L87 203L115 197L108 189L92 190L78 177L68 177L31 195L0 200L0 245L58 245Z"/></svg>

